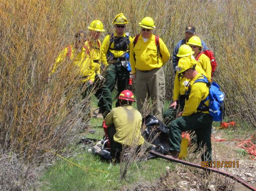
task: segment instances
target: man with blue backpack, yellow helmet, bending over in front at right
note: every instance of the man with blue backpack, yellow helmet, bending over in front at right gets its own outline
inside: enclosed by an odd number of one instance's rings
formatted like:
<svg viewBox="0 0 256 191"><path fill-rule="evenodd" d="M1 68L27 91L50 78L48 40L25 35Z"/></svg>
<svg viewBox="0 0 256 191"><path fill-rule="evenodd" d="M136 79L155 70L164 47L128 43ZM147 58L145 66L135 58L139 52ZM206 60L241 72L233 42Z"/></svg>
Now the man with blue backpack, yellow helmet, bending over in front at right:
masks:
<svg viewBox="0 0 256 191"><path fill-rule="evenodd" d="M196 82L204 78L195 69L196 64L191 58L181 58L177 71L190 80L186 91L186 101L184 110L179 113L179 118L172 121L168 126L170 154L177 158L180 151L181 132L194 130L197 135L197 145L199 148L206 146L206 151L201 156L202 161L211 161L211 127L212 117L209 114L209 87L206 83ZM206 101L204 102L204 99Z"/></svg>

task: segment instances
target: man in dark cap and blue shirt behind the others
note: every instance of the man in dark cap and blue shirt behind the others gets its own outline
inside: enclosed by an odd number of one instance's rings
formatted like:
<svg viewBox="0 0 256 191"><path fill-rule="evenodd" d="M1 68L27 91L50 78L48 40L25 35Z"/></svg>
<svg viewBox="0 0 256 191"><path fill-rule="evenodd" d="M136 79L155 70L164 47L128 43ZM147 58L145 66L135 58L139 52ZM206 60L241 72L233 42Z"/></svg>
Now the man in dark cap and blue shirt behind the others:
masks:
<svg viewBox="0 0 256 191"><path fill-rule="evenodd" d="M172 64L173 64L173 69L174 69L174 73L176 72L175 67L178 65L179 62L179 57L177 56L177 53L179 51L179 48L181 47L181 45L186 44L188 42L188 40L192 37L195 36L196 32L195 32L195 27L192 25L188 25L185 29L185 38L180 40L176 45L175 48L173 50L173 55L172 55ZM208 50L208 47L206 46L206 43L202 40L202 47L204 50Z"/></svg>

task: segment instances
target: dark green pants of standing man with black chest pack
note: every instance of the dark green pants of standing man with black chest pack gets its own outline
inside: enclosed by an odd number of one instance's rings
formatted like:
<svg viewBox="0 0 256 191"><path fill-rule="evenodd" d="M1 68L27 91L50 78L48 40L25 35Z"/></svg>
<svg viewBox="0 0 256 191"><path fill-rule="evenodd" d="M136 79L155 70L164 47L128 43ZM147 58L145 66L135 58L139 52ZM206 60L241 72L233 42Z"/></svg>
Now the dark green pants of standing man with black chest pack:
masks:
<svg viewBox="0 0 256 191"><path fill-rule="evenodd" d="M120 62L109 64L106 68L106 82L105 86L112 92L117 84L118 96L127 89L129 72ZM112 104L112 103L111 103ZM119 106L119 102L116 102L116 107Z"/></svg>

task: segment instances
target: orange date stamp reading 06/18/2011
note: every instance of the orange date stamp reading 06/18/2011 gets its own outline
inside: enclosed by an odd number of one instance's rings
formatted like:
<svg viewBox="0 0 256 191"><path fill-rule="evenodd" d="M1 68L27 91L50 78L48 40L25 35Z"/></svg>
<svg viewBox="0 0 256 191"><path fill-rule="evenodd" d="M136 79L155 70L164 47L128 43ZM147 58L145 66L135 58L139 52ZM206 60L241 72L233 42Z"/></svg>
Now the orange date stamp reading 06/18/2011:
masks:
<svg viewBox="0 0 256 191"><path fill-rule="evenodd" d="M239 161L202 161L202 168L239 168Z"/></svg>

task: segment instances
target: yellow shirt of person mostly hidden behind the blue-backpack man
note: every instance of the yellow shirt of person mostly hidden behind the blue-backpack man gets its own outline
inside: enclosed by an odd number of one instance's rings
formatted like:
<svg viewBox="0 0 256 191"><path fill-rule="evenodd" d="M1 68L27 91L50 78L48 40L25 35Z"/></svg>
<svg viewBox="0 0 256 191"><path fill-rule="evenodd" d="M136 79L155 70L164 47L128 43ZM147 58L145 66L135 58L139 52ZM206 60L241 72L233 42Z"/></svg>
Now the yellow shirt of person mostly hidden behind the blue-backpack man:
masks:
<svg viewBox="0 0 256 191"><path fill-rule="evenodd" d="M201 66L196 65L195 67L196 71L198 73L201 73L202 75L206 76L205 71L201 68ZM178 71L174 78L174 88L173 88L173 101L178 100L179 96L184 95L185 91L188 89L186 85L188 84L189 80L182 76L182 74L178 74Z"/></svg>

